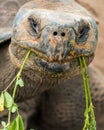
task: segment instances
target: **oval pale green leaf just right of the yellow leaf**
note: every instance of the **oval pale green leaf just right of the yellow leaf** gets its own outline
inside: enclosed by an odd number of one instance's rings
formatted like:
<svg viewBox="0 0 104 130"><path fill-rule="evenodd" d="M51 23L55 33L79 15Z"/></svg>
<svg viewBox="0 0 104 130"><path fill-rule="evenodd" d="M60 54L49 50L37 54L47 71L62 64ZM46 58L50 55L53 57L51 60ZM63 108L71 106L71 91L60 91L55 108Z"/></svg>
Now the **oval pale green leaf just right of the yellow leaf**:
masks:
<svg viewBox="0 0 104 130"><path fill-rule="evenodd" d="M6 108L10 108L13 104L13 99L8 92L4 92L4 106Z"/></svg>

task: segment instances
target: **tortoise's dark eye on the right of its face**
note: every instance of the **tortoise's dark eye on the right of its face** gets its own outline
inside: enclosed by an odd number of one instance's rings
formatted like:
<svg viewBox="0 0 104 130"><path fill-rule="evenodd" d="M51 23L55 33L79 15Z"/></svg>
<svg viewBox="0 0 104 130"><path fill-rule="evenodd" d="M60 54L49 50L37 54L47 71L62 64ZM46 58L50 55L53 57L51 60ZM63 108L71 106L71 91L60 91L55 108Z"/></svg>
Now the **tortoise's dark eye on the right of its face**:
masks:
<svg viewBox="0 0 104 130"><path fill-rule="evenodd" d="M78 35L77 35L77 38L76 38L76 42L78 43L78 44L84 44L86 41L87 41L87 39L88 39L88 36L89 36L89 30L90 30L90 27L89 26L85 26L85 27L83 27L80 31L79 31L79 33L78 33Z"/></svg>

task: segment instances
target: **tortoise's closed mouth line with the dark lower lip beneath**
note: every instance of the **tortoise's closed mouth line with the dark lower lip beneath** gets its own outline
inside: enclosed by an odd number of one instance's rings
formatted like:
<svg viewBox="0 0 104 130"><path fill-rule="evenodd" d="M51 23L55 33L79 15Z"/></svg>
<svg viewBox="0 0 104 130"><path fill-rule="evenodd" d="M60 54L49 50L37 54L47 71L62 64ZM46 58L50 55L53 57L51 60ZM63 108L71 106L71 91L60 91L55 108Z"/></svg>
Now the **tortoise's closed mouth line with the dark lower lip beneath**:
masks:
<svg viewBox="0 0 104 130"><path fill-rule="evenodd" d="M23 46L22 46L23 47ZM28 49L28 47L23 47ZM82 54L78 55L70 55L63 60L56 60L56 59L48 59L42 52L36 50L35 48L29 48L31 52L34 54L34 64L39 66L42 70L50 72L50 73L67 73L74 71L74 69L80 68L78 58L82 55L85 57L86 64L89 65L93 58L94 53L90 51L82 52Z"/></svg>

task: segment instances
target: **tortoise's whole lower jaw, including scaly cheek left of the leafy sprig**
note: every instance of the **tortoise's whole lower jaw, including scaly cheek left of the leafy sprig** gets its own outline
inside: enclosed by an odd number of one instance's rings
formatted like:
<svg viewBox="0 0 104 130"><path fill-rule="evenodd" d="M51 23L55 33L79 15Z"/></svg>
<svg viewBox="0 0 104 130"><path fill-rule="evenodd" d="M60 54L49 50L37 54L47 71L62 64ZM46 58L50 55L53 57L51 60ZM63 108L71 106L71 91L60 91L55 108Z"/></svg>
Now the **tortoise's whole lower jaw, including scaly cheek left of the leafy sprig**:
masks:
<svg viewBox="0 0 104 130"><path fill-rule="evenodd" d="M16 65L18 65L18 67L20 68L21 61L23 61L23 57L24 55L26 55L29 48L14 43L11 44L10 48L10 53L12 53L13 55L12 57L15 57L15 60L13 60L13 62L16 61ZM78 57L84 55L87 65L91 63L94 57L94 53L86 53L82 55L80 54L78 56L71 56L69 59L65 61L55 60L50 62L50 60L47 60L47 58L45 58L44 56L42 57L42 54L40 52L36 51L35 49L30 50L31 55L29 57L29 62L27 63L27 65L29 66L28 69L41 69L41 71L49 72L50 74L74 72L74 70L80 69Z"/></svg>

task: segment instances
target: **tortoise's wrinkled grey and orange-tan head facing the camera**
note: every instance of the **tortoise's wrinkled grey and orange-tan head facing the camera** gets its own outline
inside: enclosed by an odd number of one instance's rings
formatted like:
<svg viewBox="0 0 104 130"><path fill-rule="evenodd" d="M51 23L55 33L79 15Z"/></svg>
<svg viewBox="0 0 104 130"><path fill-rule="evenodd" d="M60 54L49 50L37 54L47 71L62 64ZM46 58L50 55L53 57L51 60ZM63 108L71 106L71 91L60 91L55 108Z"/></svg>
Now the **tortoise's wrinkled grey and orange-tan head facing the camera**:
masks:
<svg viewBox="0 0 104 130"><path fill-rule="evenodd" d="M26 68L40 76L67 79L79 73L78 57L85 56L87 64L92 61L98 39L97 25L84 8L74 4L66 3L66 8L62 2L49 8L34 8L30 4L31 8L25 5L20 9L9 49L17 67L27 50L31 50L31 55Z"/></svg>

